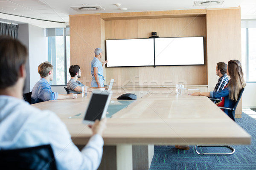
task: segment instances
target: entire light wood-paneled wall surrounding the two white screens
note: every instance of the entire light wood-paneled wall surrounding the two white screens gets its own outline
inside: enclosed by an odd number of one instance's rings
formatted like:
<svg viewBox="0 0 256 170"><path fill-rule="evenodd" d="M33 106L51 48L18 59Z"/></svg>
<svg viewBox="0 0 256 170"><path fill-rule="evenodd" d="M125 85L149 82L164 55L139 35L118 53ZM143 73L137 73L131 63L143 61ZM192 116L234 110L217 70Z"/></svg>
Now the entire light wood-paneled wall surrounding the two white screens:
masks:
<svg viewBox="0 0 256 170"><path fill-rule="evenodd" d="M116 79L114 86L119 87L184 82L208 85L212 91L218 81L216 64L241 60L240 8L71 15L70 58L72 65L81 66L80 81L90 86L93 51L97 47L104 50L105 40L147 38L153 31L160 37L204 36L205 65L106 68L105 84L112 78ZM241 104L237 113L241 114Z"/></svg>

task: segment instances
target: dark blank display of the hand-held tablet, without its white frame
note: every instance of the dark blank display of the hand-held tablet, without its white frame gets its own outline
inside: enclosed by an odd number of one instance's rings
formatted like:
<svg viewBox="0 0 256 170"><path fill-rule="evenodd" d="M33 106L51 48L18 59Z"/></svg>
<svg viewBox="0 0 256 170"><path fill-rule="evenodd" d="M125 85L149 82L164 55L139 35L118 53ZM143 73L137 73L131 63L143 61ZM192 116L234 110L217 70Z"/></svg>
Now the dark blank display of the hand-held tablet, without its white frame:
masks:
<svg viewBox="0 0 256 170"><path fill-rule="evenodd" d="M87 113L85 114L84 120L91 120L91 121L95 121L97 119L100 120L107 100L108 100L108 95L93 94L90 100L90 103L88 105Z"/></svg>

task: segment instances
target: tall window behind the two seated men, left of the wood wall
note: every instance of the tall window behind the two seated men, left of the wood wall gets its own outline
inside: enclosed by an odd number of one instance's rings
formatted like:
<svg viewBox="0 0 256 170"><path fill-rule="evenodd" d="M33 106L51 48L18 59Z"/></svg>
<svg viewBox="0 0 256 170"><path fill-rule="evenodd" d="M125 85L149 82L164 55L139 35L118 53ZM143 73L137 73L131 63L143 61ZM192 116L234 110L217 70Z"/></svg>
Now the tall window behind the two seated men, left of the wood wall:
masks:
<svg viewBox="0 0 256 170"><path fill-rule="evenodd" d="M47 28L48 61L53 65L51 85L67 85L70 79L70 36L67 28Z"/></svg>

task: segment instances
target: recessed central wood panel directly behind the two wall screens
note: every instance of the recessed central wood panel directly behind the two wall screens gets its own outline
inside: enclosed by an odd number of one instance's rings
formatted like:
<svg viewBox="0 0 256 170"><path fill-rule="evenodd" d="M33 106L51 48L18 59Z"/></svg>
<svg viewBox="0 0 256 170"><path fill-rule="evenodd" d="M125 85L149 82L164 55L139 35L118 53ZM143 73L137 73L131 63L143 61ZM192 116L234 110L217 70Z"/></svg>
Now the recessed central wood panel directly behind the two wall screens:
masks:
<svg viewBox="0 0 256 170"><path fill-rule="evenodd" d="M154 31L160 37L206 37L205 22L205 17L105 21L105 38L148 38ZM115 86L207 85L207 65L106 68L107 82L112 78Z"/></svg>

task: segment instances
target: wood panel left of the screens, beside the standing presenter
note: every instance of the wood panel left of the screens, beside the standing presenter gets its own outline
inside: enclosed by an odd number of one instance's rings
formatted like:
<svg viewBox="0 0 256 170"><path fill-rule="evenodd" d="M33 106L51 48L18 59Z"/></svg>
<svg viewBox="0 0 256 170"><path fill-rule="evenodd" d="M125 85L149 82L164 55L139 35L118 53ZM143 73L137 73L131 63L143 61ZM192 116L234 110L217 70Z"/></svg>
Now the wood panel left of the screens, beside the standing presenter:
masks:
<svg viewBox="0 0 256 170"><path fill-rule="evenodd" d="M102 47L100 15L70 16L70 64L81 67L79 81L90 86L92 76L90 64L94 49ZM104 44L103 44L104 46Z"/></svg>

